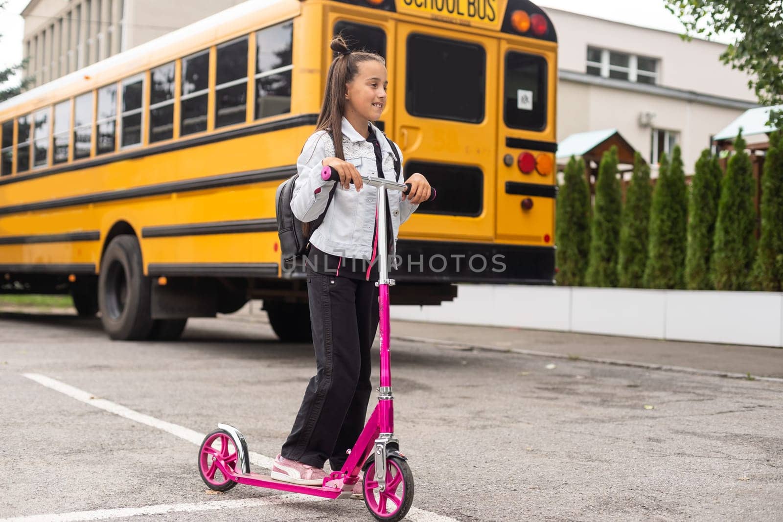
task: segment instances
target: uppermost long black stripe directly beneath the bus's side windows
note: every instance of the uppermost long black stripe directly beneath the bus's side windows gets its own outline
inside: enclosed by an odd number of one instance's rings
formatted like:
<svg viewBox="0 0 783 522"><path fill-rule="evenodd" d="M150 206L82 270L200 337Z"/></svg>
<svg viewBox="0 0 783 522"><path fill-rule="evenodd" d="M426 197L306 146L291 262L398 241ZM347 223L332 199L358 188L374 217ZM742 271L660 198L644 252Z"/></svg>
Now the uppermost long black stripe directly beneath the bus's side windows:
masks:
<svg viewBox="0 0 783 522"><path fill-rule="evenodd" d="M241 138L242 136L263 134L265 132L282 131L287 128L304 127L305 125L315 125L318 120L318 114L301 114L285 118L284 120L269 121L267 123L254 124L249 127L236 128L232 131L218 132L206 136L199 136L193 139L180 139L176 142L165 143L164 145L148 146L145 149L133 149L128 152L111 154L106 157L96 157L92 160L80 161L77 164L70 164L64 167L52 167L42 171L36 171L33 174L20 173L10 178L0 179L0 185L9 183L26 182L29 179L45 178L63 172L79 171L84 168L99 167L114 163L115 161L132 160L137 157L153 156L155 154L168 153L179 149L188 149L207 143L223 142L226 139Z"/></svg>

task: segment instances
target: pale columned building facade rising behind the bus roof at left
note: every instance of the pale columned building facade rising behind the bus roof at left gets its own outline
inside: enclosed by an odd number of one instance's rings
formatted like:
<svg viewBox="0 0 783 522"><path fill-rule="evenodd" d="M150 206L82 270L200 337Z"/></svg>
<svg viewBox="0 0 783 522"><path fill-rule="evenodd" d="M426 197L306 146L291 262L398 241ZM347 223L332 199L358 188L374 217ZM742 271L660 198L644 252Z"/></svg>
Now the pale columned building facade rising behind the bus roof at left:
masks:
<svg viewBox="0 0 783 522"><path fill-rule="evenodd" d="M31 0L21 13L25 76L43 85L241 2Z"/></svg>

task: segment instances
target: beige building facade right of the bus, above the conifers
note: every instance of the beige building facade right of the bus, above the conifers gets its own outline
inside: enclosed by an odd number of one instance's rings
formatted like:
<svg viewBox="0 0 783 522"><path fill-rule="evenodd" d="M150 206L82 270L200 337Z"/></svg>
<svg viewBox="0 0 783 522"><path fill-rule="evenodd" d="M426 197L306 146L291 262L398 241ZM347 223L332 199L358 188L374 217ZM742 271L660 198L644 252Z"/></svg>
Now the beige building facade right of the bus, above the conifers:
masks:
<svg viewBox="0 0 783 522"><path fill-rule="evenodd" d="M557 141L616 128L651 164L674 145L691 174L716 129L756 106L749 77L723 65L726 45L558 9Z"/></svg>

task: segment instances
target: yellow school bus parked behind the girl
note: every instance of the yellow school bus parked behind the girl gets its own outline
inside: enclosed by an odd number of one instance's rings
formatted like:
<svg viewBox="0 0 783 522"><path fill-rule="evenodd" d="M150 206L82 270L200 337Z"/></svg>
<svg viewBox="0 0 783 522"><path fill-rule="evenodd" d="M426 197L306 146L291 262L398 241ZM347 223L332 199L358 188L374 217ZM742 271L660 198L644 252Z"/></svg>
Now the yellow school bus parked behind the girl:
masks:
<svg viewBox="0 0 783 522"><path fill-rule="evenodd" d="M551 284L557 37L528 0L251 0L0 104L0 293L70 293L114 339L260 298L307 340L275 191L343 34L384 56L378 126L438 199L400 231L393 303Z"/></svg>

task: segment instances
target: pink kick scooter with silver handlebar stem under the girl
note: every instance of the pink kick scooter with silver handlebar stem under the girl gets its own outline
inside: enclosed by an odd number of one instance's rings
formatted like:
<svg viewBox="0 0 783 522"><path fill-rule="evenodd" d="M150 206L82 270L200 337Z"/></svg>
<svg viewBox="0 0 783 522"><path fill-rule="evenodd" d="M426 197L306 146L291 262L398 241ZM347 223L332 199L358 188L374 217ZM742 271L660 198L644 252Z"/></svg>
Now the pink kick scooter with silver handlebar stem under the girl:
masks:
<svg viewBox="0 0 783 522"><path fill-rule="evenodd" d="M331 167L323 167L321 178L339 181L340 176ZM201 443L198 468L207 487L228 491L236 484L250 484L258 488L278 489L326 499L347 499L359 471L364 471L364 503L377 520L401 520L413 504L413 473L406 456L399 451L394 436L394 397L391 395L391 362L389 357L389 286L386 237L386 190L408 193L410 183L402 184L384 178L362 176L366 185L377 189L377 258L379 260L380 327L381 327L381 387L378 405L367 421L359 440L348 450L348 460L339 471L333 471L318 486L302 486L275 481L268 475L251 473L247 442L235 427L218 424ZM432 189L430 201L435 199ZM219 473L218 473L219 472Z"/></svg>

